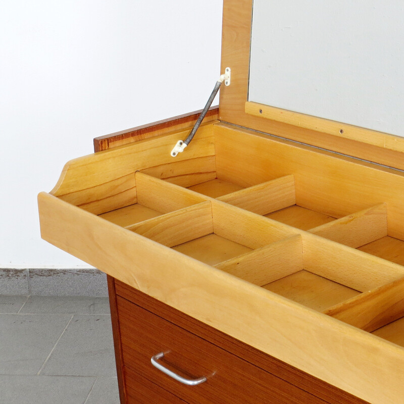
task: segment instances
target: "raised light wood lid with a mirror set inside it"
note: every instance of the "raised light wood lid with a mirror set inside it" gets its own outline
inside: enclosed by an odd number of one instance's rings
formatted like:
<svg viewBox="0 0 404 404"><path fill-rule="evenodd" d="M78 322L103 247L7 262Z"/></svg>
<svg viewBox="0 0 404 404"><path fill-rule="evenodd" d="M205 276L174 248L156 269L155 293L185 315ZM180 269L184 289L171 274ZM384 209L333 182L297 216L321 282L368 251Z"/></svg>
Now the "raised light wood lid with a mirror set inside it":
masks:
<svg viewBox="0 0 404 404"><path fill-rule="evenodd" d="M397 0L224 0L219 119L403 170L403 15Z"/></svg>

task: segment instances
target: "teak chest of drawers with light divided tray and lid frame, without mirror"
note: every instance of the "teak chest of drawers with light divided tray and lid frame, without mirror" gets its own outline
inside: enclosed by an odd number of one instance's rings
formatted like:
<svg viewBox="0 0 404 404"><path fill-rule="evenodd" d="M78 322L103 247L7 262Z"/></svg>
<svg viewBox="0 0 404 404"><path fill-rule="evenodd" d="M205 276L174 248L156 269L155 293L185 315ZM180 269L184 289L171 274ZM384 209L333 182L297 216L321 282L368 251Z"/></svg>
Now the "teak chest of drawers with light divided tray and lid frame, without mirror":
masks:
<svg viewBox="0 0 404 404"><path fill-rule="evenodd" d="M109 275L122 404L398 404L404 139L245 104L250 12L225 2L232 84L184 152L195 115L95 139L41 235Z"/></svg>

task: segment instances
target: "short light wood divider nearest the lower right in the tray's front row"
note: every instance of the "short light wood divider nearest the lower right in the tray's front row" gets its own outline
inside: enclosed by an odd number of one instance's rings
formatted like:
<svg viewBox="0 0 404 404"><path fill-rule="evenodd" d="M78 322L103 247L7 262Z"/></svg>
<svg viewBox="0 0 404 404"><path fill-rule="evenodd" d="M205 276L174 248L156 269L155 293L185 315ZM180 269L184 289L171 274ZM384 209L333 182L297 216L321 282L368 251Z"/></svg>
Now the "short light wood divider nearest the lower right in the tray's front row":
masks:
<svg viewBox="0 0 404 404"><path fill-rule="evenodd" d="M404 315L404 278L362 293L324 313L363 330L374 331Z"/></svg>

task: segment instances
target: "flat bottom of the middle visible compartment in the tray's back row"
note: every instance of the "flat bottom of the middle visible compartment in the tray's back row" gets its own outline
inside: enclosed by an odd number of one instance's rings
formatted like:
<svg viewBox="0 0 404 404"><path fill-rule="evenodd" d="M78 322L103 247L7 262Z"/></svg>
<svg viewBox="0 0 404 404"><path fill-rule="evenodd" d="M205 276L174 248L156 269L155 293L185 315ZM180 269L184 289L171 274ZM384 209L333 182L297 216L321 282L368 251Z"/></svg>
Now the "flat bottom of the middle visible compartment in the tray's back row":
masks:
<svg viewBox="0 0 404 404"><path fill-rule="evenodd" d="M309 230L335 220L334 217L329 215L324 215L323 213L315 212L297 205L284 208L265 216L300 230Z"/></svg>

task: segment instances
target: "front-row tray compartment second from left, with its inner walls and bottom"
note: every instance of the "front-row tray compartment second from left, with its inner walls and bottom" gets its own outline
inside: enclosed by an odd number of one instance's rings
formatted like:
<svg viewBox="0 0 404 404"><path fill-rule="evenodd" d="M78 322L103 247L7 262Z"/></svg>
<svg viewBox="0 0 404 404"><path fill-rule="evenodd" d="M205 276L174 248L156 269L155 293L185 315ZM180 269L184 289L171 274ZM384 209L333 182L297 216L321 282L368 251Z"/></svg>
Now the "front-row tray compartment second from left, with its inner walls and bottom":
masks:
<svg viewBox="0 0 404 404"><path fill-rule="evenodd" d="M128 229L209 265L293 234L293 230L282 225L268 223L260 216L214 200L129 226Z"/></svg>

